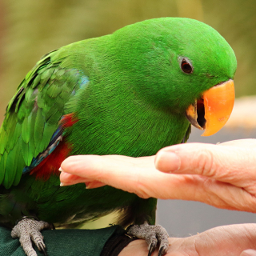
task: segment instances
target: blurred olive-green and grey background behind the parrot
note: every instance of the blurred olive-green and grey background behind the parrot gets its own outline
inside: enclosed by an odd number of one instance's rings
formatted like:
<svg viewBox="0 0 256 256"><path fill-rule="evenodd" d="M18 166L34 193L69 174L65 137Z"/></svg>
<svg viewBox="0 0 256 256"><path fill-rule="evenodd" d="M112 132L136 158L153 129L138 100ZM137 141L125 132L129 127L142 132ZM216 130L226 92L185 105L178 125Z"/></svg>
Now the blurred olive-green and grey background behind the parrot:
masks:
<svg viewBox="0 0 256 256"><path fill-rule="evenodd" d="M110 34L134 22L171 16L195 18L213 26L238 59L234 79L237 99L230 121L210 138L201 138L201 132L193 130L189 142L256 138L255 10L254 0L2 0L0 123L7 102L43 54L71 42ZM218 210L198 202L160 200L158 222L169 234L186 236L213 226L256 222L256 215Z"/></svg>

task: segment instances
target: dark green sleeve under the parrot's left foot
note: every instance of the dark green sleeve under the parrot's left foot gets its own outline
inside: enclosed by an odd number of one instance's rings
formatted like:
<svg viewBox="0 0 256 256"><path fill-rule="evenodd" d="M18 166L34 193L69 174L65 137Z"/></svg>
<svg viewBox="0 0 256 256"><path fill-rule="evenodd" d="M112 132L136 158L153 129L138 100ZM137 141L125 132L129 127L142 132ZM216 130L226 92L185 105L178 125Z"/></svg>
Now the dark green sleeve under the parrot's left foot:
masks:
<svg viewBox="0 0 256 256"><path fill-rule="evenodd" d="M0 226L0 255L26 256L18 239L11 238L10 231ZM99 230L43 230L42 235L48 256L99 256L111 235L123 232L121 226L110 226ZM35 250L38 256L43 255Z"/></svg>

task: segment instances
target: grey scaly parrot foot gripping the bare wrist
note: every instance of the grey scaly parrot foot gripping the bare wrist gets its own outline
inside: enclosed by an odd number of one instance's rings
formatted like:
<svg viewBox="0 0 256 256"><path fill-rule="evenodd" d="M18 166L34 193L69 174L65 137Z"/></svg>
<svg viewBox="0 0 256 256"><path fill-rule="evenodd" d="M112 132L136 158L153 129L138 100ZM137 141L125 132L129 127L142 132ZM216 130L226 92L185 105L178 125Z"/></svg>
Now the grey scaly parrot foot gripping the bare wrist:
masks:
<svg viewBox="0 0 256 256"><path fill-rule="evenodd" d="M148 244L150 256L159 244L158 256L165 255L169 248L168 233L160 225L150 226L147 222L142 225L133 225L128 228L127 234L141 238Z"/></svg>

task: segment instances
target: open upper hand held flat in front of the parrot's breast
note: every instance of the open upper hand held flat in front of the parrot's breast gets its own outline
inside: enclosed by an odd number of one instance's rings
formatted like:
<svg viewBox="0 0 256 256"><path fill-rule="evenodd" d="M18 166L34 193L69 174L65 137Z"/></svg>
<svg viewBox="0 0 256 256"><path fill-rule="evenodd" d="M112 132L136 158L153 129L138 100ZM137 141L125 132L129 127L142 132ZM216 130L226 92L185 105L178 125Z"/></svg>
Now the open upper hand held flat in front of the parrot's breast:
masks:
<svg viewBox="0 0 256 256"><path fill-rule="evenodd" d="M155 163L161 172L154 167L154 156L73 156L62 162L65 173L60 178L64 185L107 184L142 198L193 200L256 212L256 139L169 146L158 152Z"/></svg>

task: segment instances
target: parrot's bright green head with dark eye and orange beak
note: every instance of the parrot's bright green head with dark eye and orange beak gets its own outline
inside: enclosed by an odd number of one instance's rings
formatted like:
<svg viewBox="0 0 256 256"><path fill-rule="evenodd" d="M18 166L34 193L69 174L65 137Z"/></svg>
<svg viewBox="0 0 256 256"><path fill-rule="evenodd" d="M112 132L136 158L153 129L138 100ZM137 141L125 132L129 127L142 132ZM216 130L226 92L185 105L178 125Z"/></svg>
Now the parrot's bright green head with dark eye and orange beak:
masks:
<svg viewBox="0 0 256 256"><path fill-rule="evenodd" d="M138 97L184 114L203 136L224 126L234 106L234 51L212 27L190 18L156 18L113 34L121 74Z"/></svg>

